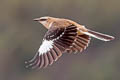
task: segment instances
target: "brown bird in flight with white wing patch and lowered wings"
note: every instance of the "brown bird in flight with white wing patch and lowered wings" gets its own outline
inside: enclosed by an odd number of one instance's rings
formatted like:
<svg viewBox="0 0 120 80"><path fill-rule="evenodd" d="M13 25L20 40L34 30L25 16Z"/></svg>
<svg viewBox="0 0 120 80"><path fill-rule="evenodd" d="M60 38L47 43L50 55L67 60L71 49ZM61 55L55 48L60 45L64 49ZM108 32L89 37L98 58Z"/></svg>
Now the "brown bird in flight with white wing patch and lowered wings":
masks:
<svg viewBox="0 0 120 80"><path fill-rule="evenodd" d="M26 67L41 69L52 65L64 53L80 53L85 50L91 37L111 41L113 36L87 29L75 21L44 16L33 19L48 29L35 56L25 61Z"/></svg>

